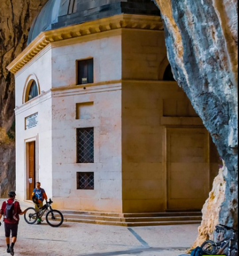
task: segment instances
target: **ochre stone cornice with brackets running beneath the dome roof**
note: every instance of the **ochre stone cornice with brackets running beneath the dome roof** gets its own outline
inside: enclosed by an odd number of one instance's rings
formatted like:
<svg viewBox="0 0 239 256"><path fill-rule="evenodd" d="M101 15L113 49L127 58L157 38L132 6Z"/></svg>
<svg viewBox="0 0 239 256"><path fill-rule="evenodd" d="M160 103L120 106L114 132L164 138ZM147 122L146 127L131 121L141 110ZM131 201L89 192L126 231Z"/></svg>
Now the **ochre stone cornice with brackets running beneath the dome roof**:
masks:
<svg viewBox="0 0 239 256"><path fill-rule="evenodd" d="M84 37L113 29L146 29L159 31L163 30L163 22L161 17L156 16L121 14L60 29L43 31L11 64L9 64L9 66L7 66L7 69L15 74L50 43L76 37Z"/></svg>

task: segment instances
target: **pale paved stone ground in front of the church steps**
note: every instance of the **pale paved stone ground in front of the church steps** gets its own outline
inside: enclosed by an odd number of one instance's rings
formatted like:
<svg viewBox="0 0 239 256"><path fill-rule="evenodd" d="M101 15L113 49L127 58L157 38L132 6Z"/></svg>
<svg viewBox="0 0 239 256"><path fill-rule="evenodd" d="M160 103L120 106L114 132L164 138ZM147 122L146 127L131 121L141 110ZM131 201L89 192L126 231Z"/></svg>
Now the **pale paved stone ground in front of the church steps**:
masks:
<svg viewBox="0 0 239 256"><path fill-rule="evenodd" d="M2 203L3 199L0 199ZM21 203L21 202L20 202ZM21 208L31 206L21 203ZM3 224L3 219L1 219ZM197 224L119 227L65 222L60 227L19 223L15 255L21 256L178 256L197 237ZM4 226L0 227L0 256L6 252Z"/></svg>

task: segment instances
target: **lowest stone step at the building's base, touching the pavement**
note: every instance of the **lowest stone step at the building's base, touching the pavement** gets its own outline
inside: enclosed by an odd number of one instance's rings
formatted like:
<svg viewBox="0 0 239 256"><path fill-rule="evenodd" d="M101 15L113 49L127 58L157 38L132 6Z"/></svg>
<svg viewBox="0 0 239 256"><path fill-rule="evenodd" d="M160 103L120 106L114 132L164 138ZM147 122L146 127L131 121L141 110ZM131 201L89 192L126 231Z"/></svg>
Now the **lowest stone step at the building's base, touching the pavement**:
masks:
<svg viewBox="0 0 239 256"><path fill-rule="evenodd" d="M122 222L122 221L103 221L103 220L96 220L96 219L76 219L76 218L74 218L74 219L64 218L64 221L100 224L100 225L119 225L119 226L124 226L124 227L139 227L139 226L154 226L154 225L184 225L184 224L199 224L200 223L200 221L197 221L197 220Z"/></svg>

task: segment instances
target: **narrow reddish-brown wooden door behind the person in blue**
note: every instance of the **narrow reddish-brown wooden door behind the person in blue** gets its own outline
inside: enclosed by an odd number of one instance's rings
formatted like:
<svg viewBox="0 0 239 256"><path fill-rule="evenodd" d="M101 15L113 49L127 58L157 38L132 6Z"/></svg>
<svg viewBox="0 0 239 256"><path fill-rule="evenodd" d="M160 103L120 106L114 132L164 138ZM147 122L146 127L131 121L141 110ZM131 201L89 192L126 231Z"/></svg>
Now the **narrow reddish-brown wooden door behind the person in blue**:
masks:
<svg viewBox="0 0 239 256"><path fill-rule="evenodd" d="M29 142L29 195L31 199L33 190L35 189L35 142Z"/></svg>

